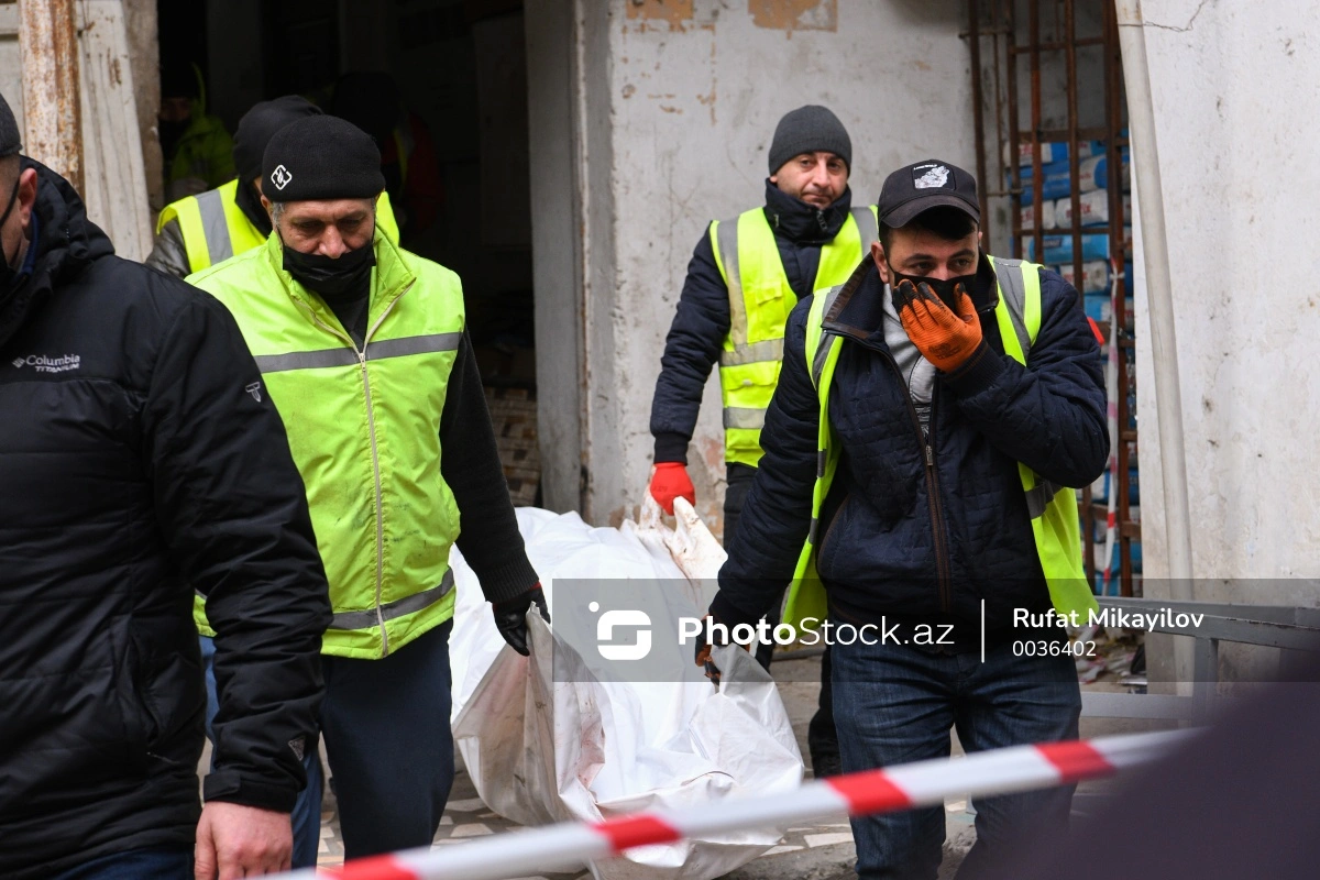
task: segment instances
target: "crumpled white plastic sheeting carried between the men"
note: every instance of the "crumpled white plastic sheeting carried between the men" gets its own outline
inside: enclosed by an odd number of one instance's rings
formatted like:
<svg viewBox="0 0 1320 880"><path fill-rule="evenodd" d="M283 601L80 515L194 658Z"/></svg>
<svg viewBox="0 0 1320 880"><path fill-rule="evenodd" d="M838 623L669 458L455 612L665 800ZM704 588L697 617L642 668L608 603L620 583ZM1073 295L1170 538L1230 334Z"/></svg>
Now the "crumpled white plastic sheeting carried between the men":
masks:
<svg viewBox="0 0 1320 880"><path fill-rule="evenodd" d="M653 513L643 519L640 528L597 529L576 513L517 511L552 613L568 602L554 602L556 579L591 578L673 584L648 596L652 615L705 611L723 557L718 544L690 508L680 511L678 532ZM685 681L610 681L601 657L577 653L533 613L532 657L523 658L504 645L457 550L453 565L454 739L482 800L500 815L521 825L595 821L800 784L803 761L788 715L774 682L746 652L717 649L725 672L718 691L690 660ZM770 829L743 831L642 847L589 867L603 880L710 880L777 839Z"/></svg>

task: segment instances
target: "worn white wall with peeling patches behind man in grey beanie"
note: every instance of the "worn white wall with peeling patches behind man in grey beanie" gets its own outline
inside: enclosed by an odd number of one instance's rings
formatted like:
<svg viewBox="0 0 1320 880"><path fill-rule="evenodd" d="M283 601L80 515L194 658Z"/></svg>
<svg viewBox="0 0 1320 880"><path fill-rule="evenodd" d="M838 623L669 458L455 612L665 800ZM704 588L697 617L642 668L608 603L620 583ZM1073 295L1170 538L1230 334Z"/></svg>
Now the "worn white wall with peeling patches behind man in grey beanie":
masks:
<svg viewBox="0 0 1320 880"><path fill-rule="evenodd" d="M529 3L529 28L537 5L554 4ZM964 8L961 0L577 0L579 210L576 219L546 216L533 202L533 230L541 241L546 226L576 222L585 236L581 410L543 406L541 418L568 438L581 416L587 519L616 522L644 496L651 396L688 260L711 219L762 204L766 152L784 112L820 103L842 119L857 203L874 202L887 172L932 154L974 168ZM537 142L533 116L533 178ZM537 265L562 256L539 249ZM545 302L539 318L572 306ZM539 332L543 380L572 355L570 340L553 351L546 342ZM711 379L689 451L698 508L711 517L723 491L722 433ZM577 453L543 449L543 460L564 459L546 463L558 486L568 486ZM548 488L550 505L572 500Z"/></svg>

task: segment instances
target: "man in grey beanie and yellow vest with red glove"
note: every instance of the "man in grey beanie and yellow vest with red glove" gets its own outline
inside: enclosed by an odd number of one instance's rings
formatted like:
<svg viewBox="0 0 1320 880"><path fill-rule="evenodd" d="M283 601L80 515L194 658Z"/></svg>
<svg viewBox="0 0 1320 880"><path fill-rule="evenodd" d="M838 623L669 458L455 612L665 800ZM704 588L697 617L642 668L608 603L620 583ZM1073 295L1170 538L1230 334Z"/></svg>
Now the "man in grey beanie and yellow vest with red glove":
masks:
<svg viewBox="0 0 1320 880"><path fill-rule="evenodd" d="M668 513L676 497L696 503L688 443L718 360L725 546L734 541L760 460L760 426L779 379L784 321L799 299L847 280L875 240L875 210L851 207L851 165L853 142L828 108L809 104L787 113L770 144L764 206L711 223L688 264L651 402L651 495ZM770 649L758 652L766 666L770 657ZM816 776L828 776L838 772L828 654L821 682L821 710L808 740Z"/></svg>

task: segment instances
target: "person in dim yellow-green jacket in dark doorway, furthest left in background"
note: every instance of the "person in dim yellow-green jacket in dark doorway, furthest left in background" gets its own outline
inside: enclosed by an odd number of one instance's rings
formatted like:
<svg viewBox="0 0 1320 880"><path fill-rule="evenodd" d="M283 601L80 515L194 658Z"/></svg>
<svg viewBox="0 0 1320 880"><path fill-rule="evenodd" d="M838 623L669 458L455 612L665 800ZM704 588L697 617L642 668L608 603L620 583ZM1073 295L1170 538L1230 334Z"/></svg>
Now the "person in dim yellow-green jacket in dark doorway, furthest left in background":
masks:
<svg viewBox="0 0 1320 880"><path fill-rule="evenodd" d="M219 116L206 112L206 84L197 65L170 65L161 73L157 131L166 202L214 190L234 177L234 141Z"/></svg>

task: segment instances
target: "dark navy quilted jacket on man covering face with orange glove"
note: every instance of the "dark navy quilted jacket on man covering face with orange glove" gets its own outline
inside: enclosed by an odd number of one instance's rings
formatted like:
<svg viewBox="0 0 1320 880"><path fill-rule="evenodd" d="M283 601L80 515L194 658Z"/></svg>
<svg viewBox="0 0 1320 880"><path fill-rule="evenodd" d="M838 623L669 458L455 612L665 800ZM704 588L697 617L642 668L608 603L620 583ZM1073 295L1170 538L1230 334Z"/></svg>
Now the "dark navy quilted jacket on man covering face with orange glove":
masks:
<svg viewBox="0 0 1320 880"><path fill-rule="evenodd" d="M888 294L873 261L845 285L825 322L843 336L829 401L842 459L817 566L833 617L979 623L985 599L987 629L1002 632L1012 608L1049 607L1018 462L1086 486L1105 468L1109 437L1104 364L1077 292L1047 270L1040 285L1040 331L1023 367L1003 354L982 257L973 301L983 342L940 375L929 445L884 344ZM804 361L808 310L800 302L788 319L766 455L711 606L735 623L759 617L792 579L810 524L820 408Z"/></svg>

